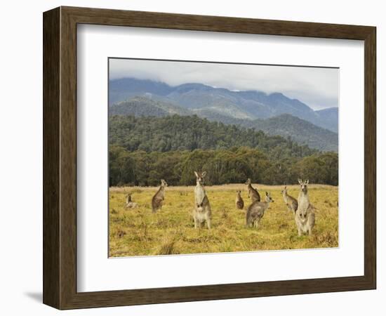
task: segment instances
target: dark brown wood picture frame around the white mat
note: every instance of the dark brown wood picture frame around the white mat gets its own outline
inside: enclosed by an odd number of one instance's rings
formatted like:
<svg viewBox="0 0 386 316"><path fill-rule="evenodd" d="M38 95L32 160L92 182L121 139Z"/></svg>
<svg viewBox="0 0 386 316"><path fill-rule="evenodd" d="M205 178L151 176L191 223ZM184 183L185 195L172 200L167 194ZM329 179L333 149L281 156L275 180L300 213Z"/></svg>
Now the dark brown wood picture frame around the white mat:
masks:
<svg viewBox="0 0 386 316"><path fill-rule="evenodd" d="M60 7L44 22L43 301L59 309L279 296L376 287L375 27ZM76 25L119 25L364 41L364 275L194 287L76 291ZM371 188L371 190L366 190Z"/></svg>

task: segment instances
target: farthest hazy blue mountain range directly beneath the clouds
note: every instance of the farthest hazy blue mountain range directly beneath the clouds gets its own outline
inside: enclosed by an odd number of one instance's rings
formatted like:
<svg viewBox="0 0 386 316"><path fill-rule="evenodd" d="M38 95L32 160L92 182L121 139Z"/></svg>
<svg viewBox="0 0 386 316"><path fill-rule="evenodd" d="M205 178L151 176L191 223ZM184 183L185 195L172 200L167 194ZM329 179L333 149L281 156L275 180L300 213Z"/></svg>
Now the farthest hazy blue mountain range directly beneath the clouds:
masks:
<svg viewBox="0 0 386 316"><path fill-rule="evenodd" d="M324 129L338 131L338 108L314 111L305 103L288 98L282 93L229 91L226 88L195 83L168 86L163 82L133 78L109 81L109 105L133 96L145 96L171 103L197 114L221 114L235 119L267 119L280 114L291 114Z"/></svg>

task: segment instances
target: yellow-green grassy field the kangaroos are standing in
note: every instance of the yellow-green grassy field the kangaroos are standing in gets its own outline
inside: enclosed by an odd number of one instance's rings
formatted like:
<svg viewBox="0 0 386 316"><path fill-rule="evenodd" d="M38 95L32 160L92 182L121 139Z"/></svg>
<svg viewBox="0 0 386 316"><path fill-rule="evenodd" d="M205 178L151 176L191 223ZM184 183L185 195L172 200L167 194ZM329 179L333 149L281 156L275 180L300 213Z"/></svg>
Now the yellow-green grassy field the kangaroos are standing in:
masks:
<svg viewBox="0 0 386 316"><path fill-rule="evenodd" d="M254 185L255 187L255 185ZM312 236L298 237L292 213L286 209L282 186L258 185L274 203L265 212L259 228L245 228L245 210L250 199L246 185L206 187L212 208L212 229L194 229L194 187L166 187L164 206L153 214L151 199L157 187L110 187L109 256L197 254L274 249L309 249L338 246L338 187L309 185L310 202L317 208ZM234 206L241 190L244 210ZM298 185L288 194L298 197ZM126 209L126 194L132 192L136 209Z"/></svg>

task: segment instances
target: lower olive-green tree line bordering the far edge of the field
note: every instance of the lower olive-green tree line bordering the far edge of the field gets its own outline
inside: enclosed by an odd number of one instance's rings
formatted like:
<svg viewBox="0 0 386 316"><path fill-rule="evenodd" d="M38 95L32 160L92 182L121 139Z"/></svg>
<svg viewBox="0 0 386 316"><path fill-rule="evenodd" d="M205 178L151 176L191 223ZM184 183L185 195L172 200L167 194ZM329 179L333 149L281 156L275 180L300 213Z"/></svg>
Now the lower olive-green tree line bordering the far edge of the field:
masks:
<svg viewBox="0 0 386 316"><path fill-rule="evenodd" d="M308 157L272 158L272 154L246 146L229 149L131 151L109 146L109 185L194 185L194 171L206 171L206 185L255 183L284 185L308 178L310 183L338 185L338 154L314 152Z"/></svg>

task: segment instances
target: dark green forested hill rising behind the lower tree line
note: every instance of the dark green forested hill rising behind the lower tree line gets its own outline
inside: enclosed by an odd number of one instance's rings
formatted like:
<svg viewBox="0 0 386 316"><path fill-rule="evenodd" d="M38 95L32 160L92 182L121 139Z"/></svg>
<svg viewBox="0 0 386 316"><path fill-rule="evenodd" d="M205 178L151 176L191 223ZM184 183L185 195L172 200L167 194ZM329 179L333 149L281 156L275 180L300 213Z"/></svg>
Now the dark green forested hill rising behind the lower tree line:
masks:
<svg viewBox="0 0 386 316"><path fill-rule="evenodd" d="M262 131L208 121L194 116L109 117L109 143L128 151L168 152L176 150L226 150L257 148L269 159L306 157L318 150L298 145L291 138L268 136Z"/></svg>

